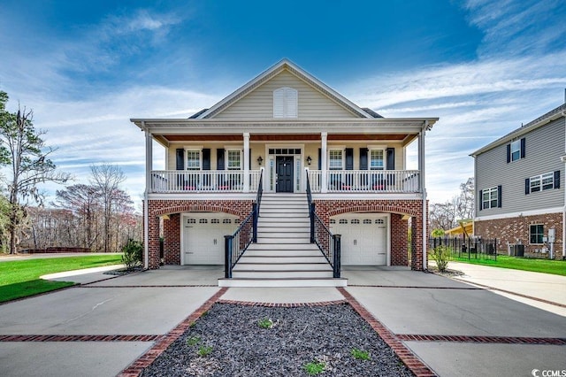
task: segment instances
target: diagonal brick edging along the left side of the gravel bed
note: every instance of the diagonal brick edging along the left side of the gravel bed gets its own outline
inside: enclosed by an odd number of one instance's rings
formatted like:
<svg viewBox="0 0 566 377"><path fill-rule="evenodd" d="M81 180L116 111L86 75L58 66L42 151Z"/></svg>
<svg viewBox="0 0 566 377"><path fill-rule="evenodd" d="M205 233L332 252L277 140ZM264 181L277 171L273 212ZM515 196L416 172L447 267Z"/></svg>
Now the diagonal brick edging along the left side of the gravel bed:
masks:
<svg viewBox="0 0 566 377"><path fill-rule="evenodd" d="M161 355L164 350L169 347L172 342L175 342L180 335L187 330L188 327L195 322L195 320L201 318L204 312L210 310L213 304L218 301L222 295L226 293L227 288L219 289L217 293L211 296L200 308L192 312L187 319L180 322L179 325L174 327L169 333L163 336L161 340L156 342L153 347L147 350L142 356L137 358L131 365L127 366L122 372L118 374L119 377L138 377L142 373L143 369L148 367L153 361Z"/></svg>

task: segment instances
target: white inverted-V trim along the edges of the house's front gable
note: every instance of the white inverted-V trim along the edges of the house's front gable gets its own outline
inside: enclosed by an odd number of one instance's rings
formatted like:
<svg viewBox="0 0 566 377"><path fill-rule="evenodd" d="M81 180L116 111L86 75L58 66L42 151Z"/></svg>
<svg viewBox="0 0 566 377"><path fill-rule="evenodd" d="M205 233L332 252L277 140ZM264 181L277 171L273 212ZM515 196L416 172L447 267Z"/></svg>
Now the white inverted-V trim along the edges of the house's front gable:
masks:
<svg viewBox="0 0 566 377"><path fill-rule="evenodd" d="M352 112L361 118L379 118L379 114L377 114L376 112L369 113L365 109L362 109L361 107L352 103L348 100L348 98L340 95L340 93L335 91L333 88L328 87L324 82L319 81L316 77L314 77L310 73L307 73L298 65L294 65L294 63L287 58L284 58L280 60L279 63L272 65L266 71L260 73L255 79L244 84L241 88L235 90L231 95L226 96L226 98L218 102L218 104L215 104L214 106L210 107L210 109L202 113L195 114L193 117L195 117L195 119L214 118L216 114L223 112L226 108L240 100L243 96L246 96L249 92L264 84L264 82L271 80L277 74L285 70L287 70L287 72L289 73L293 73L302 81L307 82L311 87L316 88L318 91L325 94L325 96L328 96L334 102L346 108L349 112ZM378 115L378 117L373 114Z"/></svg>

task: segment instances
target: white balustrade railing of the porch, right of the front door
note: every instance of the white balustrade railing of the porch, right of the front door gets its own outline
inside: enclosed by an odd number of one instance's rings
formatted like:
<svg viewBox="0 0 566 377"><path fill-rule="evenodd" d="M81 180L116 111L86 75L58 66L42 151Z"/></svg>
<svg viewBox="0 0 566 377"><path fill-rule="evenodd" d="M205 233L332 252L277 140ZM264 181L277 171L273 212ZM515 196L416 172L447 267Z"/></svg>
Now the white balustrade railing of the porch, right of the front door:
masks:
<svg viewBox="0 0 566 377"><path fill-rule="evenodd" d="M322 171L309 170L312 192L322 191ZM417 193L421 191L418 170L328 170L328 192Z"/></svg>

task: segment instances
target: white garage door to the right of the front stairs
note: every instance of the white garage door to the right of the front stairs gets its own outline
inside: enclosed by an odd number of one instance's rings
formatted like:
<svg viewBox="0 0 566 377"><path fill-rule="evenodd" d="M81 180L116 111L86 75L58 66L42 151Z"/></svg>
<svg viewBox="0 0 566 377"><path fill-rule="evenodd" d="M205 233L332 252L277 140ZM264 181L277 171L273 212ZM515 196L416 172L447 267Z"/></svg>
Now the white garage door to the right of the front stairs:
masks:
<svg viewBox="0 0 566 377"><path fill-rule="evenodd" d="M330 230L341 235L342 265L388 264L388 216L348 213L330 220Z"/></svg>

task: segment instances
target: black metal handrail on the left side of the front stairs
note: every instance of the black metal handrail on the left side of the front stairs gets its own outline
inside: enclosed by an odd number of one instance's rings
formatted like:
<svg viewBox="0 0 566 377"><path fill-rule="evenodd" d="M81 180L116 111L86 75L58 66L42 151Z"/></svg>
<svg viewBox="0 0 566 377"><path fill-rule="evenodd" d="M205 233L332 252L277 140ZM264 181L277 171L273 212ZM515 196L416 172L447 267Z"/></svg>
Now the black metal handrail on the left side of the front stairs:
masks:
<svg viewBox="0 0 566 377"><path fill-rule="evenodd" d="M248 217L241 222L240 227L236 229L233 235L224 236L226 279L232 279L233 266L238 263L244 252L248 250L249 244L251 242L257 242L257 218L259 217L259 207L264 192L264 169L262 168L259 172L256 202L252 204L251 212Z"/></svg>

